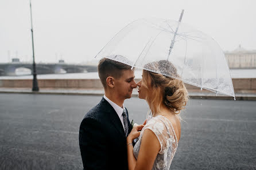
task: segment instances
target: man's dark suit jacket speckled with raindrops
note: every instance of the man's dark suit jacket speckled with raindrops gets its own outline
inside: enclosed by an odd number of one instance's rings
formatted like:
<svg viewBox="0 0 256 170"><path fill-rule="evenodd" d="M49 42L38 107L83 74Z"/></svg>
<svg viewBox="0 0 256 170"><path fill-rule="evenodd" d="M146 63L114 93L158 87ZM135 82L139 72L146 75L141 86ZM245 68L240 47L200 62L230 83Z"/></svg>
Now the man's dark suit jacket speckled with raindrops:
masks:
<svg viewBox="0 0 256 170"><path fill-rule="evenodd" d="M127 118L130 133L128 112ZM123 125L104 98L84 116L79 129L79 146L84 170L128 169Z"/></svg>

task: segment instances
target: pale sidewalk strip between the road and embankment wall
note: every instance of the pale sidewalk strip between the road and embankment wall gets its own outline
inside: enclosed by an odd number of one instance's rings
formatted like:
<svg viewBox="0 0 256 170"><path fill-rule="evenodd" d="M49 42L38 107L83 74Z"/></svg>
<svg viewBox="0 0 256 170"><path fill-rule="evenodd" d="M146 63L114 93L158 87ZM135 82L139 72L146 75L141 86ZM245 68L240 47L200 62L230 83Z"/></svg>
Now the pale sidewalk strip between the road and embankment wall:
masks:
<svg viewBox="0 0 256 170"><path fill-rule="evenodd" d="M56 88L40 88L39 92L32 92L30 88L0 88L0 93L39 93L39 94L72 94L72 95L96 95L102 96L104 94L103 89L56 89ZM138 96L137 89L133 90L133 96ZM233 97L224 96L210 91L190 91L190 98L201 98L201 99L221 99L221 100L234 100ZM235 93L236 100L256 100L256 92L238 92Z"/></svg>

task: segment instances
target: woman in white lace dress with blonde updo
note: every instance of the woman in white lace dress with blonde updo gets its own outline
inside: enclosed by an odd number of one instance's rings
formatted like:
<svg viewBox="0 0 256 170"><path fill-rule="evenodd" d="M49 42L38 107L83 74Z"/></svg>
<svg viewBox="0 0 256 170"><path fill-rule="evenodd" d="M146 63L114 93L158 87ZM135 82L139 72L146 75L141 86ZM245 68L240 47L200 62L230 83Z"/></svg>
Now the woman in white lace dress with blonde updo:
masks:
<svg viewBox="0 0 256 170"><path fill-rule="evenodd" d="M145 65L150 70L179 77L176 68L161 60ZM127 136L129 170L169 170L180 140L180 110L188 101L183 81L162 74L143 70L142 80L137 83L139 98L148 102L152 118L144 125L135 126ZM133 147L133 140L138 142Z"/></svg>

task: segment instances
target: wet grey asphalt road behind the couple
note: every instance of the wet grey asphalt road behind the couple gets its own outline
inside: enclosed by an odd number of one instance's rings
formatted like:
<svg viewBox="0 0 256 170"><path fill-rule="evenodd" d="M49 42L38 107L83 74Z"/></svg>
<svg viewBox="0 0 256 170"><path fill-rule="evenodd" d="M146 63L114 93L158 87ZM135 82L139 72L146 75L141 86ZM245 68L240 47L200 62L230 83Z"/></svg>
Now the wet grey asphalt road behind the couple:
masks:
<svg viewBox="0 0 256 170"><path fill-rule="evenodd" d="M0 93L0 169L83 169L79 125L99 96ZM125 101L130 121L148 106ZM256 169L256 102L191 99L170 169Z"/></svg>

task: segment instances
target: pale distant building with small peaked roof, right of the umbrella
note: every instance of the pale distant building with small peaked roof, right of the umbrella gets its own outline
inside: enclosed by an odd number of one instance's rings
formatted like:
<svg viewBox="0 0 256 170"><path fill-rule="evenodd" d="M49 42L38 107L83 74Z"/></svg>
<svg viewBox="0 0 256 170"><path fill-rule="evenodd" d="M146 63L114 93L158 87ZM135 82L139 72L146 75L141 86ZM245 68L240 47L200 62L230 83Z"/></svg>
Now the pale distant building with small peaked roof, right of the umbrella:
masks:
<svg viewBox="0 0 256 170"><path fill-rule="evenodd" d="M256 50L245 50L239 45L232 52L224 52L231 69L256 69Z"/></svg>

